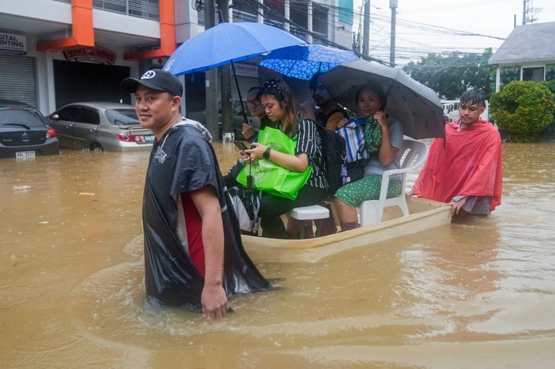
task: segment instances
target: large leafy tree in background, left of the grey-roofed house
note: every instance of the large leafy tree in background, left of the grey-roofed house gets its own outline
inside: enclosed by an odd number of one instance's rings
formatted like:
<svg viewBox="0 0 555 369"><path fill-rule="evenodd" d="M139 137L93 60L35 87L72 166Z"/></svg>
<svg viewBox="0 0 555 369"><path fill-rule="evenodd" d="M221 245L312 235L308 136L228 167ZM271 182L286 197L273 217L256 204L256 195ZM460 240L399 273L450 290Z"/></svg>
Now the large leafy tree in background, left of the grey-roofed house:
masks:
<svg viewBox="0 0 555 369"><path fill-rule="evenodd" d="M491 55L491 48L481 54L459 51L428 54L420 62L409 62L403 70L448 100L459 98L472 87L483 90L489 97L493 93L491 75L495 71L495 66L488 64Z"/></svg>

